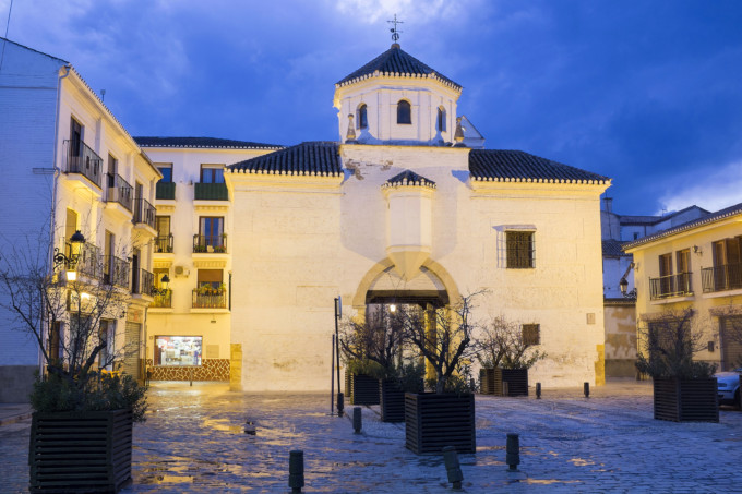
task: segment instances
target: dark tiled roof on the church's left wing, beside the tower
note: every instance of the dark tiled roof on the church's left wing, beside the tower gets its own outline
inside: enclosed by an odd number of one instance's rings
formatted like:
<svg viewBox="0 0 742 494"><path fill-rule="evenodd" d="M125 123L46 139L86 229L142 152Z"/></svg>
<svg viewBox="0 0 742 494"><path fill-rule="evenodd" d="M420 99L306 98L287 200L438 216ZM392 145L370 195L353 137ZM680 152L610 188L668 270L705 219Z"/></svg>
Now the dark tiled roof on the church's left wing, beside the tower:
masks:
<svg viewBox="0 0 742 494"><path fill-rule="evenodd" d="M235 173L337 177L343 174L338 144L307 142L229 165Z"/></svg>

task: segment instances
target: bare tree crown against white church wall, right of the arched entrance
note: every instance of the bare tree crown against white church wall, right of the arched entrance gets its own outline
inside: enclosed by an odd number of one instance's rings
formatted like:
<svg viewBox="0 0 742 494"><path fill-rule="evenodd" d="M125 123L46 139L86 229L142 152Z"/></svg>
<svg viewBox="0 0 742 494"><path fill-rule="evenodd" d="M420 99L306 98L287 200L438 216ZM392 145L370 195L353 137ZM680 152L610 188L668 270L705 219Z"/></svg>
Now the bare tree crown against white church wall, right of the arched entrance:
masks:
<svg viewBox="0 0 742 494"><path fill-rule="evenodd" d="M547 354L524 337L523 325L499 315L484 326L476 341L484 368L529 369Z"/></svg>

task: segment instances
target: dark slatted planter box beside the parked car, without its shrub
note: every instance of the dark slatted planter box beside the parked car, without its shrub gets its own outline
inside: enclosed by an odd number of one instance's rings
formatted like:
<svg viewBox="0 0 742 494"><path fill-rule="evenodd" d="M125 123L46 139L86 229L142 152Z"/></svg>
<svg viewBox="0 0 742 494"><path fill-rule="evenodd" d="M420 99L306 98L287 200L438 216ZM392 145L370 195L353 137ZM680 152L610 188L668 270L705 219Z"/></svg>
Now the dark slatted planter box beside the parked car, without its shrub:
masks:
<svg viewBox="0 0 742 494"><path fill-rule="evenodd" d="M718 422L716 378L654 379L655 419L673 422Z"/></svg>

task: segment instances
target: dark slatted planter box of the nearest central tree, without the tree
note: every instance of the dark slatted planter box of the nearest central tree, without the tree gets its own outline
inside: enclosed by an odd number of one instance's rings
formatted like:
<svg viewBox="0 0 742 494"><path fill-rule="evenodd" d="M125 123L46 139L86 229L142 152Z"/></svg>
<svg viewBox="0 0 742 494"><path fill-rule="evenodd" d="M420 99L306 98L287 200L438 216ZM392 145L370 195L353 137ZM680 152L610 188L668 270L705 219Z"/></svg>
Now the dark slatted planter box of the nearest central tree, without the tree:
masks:
<svg viewBox="0 0 742 494"><path fill-rule="evenodd" d="M440 454L445 446L475 453L474 420L474 395L405 394L405 446L418 455Z"/></svg>

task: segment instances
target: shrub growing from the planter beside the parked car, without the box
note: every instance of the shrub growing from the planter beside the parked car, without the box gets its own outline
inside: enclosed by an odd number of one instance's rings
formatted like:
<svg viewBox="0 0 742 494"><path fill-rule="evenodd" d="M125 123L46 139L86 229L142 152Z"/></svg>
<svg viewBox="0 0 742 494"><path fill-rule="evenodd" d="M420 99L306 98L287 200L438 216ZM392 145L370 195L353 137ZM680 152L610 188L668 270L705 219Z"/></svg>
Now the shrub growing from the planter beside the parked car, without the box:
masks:
<svg viewBox="0 0 742 494"><path fill-rule="evenodd" d="M636 368L651 377L710 377L716 365L693 358L707 348L709 330L693 309L668 311L639 327Z"/></svg>

